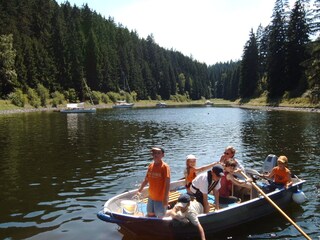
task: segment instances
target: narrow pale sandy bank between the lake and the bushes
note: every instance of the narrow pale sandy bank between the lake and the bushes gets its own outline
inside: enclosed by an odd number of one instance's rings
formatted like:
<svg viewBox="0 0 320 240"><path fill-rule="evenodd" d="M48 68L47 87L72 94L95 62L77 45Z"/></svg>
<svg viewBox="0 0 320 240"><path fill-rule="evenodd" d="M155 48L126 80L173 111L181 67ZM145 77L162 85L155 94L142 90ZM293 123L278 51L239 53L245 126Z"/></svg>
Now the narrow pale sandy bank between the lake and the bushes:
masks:
<svg viewBox="0 0 320 240"><path fill-rule="evenodd" d="M189 105L190 103L179 103L177 105ZM226 104L223 104L226 105ZM135 104L135 107L152 107L154 104ZM168 104L170 106L170 104ZM228 104L226 105L228 106ZM230 104L229 106L238 107L238 108L246 108L246 109L259 109L264 111L299 111L299 112L316 112L320 113L320 108L309 108L309 107L270 107L270 106L253 106L253 105L237 105ZM112 105L98 105L94 106L98 109L107 109L112 108ZM12 110L0 110L1 114L16 114L16 113L30 113L30 112L47 112L47 111L56 111L59 112L62 108L23 108L23 109L12 109Z"/></svg>

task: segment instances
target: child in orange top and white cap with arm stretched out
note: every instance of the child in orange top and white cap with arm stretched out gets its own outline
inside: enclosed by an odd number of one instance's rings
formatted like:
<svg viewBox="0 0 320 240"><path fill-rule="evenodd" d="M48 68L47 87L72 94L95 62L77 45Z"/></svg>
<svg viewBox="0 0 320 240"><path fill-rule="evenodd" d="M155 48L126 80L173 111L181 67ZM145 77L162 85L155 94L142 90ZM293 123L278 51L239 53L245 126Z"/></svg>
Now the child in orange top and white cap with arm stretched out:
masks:
<svg viewBox="0 0 320 240"><path fill-rule="evenodd" d="M211 169L216 163L208 164L202 167L196 167L197 158L196 156L190 154L186 158L186 169L184 170L185 182L187 190L190 189L190 185L193 179L197 176L199 172Z"/></svg>

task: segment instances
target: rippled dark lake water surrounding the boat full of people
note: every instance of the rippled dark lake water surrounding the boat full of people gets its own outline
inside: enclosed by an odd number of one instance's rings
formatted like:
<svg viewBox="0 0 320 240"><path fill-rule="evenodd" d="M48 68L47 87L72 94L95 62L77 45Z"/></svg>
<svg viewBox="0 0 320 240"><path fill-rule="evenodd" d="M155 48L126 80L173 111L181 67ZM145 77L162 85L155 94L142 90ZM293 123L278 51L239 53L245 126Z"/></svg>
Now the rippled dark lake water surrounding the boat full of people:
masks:
<svg viewBox="0 0 320 240"><path fill-rule="evenodd" d="M307 180L308 201L285 212L313 239L320 234L318 113L227 107L107 109L96 114L0 115L0 239L150 239L96 217L115 194L136 188L163 145L172 180L185 156L217 161L227 145L246 167L273 153ZM303 239L273 214L208 239Z"/></svg>

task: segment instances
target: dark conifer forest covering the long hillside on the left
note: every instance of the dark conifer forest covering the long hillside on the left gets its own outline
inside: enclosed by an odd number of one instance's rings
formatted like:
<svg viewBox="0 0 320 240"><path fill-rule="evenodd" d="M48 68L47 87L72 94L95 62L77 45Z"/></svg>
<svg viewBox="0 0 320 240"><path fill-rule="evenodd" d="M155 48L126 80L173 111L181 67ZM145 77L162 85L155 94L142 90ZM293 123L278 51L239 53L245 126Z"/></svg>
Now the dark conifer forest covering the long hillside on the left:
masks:
<svg viewBox="0 0 320 240"><path fill-rule="evenodd" d="M79 9L53 0L1 0L0 15L0 34L13 36L17 73L17 81L3 80L1 97L38 83L50 92L74 88L83 95L83 78L100 92L128 91L125 78L139 99L210 95L206 64L161 48L152 35L141 39L88 5Z"/></svg>

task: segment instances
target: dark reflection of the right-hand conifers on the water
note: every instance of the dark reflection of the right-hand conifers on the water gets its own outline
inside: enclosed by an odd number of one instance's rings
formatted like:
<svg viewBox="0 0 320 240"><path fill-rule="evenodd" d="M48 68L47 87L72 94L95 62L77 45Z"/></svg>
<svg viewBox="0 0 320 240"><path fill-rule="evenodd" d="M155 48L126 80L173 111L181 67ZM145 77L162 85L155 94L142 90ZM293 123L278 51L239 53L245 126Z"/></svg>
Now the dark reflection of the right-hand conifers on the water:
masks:
<svg viewBox="0 0 320 240"><path fill-rule="evenodd" d="M256 162L270 153L286 155L289 167L305 168L320 154L318 117L315 113L248 110L240 123L246 157Z"/></svg>

